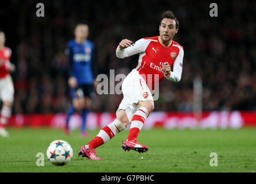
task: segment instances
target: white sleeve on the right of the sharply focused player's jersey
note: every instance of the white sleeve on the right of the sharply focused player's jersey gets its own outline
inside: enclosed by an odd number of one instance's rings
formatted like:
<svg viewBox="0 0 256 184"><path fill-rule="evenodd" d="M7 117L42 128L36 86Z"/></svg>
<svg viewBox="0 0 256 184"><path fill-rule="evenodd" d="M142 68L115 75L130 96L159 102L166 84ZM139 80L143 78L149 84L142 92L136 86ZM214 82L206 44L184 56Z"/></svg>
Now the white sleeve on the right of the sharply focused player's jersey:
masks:
<svg viewBox="0 0 256 184"><path fill-rule="evenodd" d="M179 55L175 59L175 62L173 63L173 71L170 71L170 74L167 76L165 75L165 78L172 82L179 82L181 79L181 73L183 68L183 56L184 51L180 48Z"/></svg>

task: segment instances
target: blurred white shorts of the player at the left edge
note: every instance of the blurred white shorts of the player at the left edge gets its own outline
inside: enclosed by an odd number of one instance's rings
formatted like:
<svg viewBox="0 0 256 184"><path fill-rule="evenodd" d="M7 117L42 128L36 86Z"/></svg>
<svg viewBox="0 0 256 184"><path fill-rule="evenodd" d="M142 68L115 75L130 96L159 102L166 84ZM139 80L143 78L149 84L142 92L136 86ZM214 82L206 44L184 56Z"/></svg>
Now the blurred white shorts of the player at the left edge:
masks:
<svg viewBox="0 0 256 184"><path fill-rule="evenodd" d="M0 79L0 98L3 102L13 102L14 87L13 80L10 75Z"/></svg>

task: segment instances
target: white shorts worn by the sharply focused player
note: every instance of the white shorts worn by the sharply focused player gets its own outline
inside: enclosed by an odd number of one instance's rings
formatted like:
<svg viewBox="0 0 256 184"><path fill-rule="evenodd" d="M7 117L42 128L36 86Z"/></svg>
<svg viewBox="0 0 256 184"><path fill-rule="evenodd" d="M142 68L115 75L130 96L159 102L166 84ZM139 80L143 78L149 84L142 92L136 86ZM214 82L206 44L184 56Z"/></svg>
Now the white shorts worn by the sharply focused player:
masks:
<svg viewBox="0 0 256 184"><path fill-rule="evenodd" d="M121 109L125 110L129 122L132 121L133 115L139 109L136 105L139 100L153 101L153 97L149 87L147 87L147 83L144 81L139 72L135 69L133 69L124 79L122 84L122 91L124 94L124 98L117 109L116 115L118 115L118 112Z"/></svg>

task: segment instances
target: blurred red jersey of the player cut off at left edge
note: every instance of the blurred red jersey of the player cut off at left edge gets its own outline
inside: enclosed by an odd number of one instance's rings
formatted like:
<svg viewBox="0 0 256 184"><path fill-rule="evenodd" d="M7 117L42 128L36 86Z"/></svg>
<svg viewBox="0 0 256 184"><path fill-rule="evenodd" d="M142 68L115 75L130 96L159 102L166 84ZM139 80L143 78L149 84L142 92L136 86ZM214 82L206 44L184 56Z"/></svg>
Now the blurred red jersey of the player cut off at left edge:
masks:
<svg viewBox="0 0 256 184"><path fill-rule="evenodd" d="M10 64L10 56L12 51L8 47L0 49L0 79L5 78L8 74L8 65Z"/></svg>

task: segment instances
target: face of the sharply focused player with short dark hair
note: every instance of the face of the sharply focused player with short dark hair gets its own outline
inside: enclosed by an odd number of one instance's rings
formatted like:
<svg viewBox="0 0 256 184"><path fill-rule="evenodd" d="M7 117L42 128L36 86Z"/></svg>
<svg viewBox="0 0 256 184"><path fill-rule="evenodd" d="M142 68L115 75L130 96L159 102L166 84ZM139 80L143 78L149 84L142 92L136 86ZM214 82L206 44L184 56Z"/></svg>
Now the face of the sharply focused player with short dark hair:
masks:
<svg viewBox="0 0 256 184"><path fill-rule="evenodd" d="M170 18L164 18L159 25L159 34L163 41L170 41L178 32L176 29L176 22Z"/></svg>

